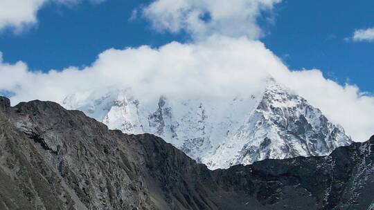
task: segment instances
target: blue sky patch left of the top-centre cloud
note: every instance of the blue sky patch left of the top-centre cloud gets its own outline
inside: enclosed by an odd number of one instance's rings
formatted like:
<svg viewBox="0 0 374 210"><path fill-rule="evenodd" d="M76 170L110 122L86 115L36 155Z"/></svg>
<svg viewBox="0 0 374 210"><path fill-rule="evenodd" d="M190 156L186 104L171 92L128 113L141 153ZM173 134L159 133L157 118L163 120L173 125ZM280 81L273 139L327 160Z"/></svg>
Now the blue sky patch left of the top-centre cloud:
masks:
<svg viewBox="0 0 374 210"><path fill-rule="evenodd" d="M0 51L8 62L25 61L31 69L86 66L109 48L161 46L181 35L150 30L145 19L130 21L132 11L150 1L110 0L99 5L83 1L78 6L48 3L37 13L38 24L15 35L0 35Z"/></svg>

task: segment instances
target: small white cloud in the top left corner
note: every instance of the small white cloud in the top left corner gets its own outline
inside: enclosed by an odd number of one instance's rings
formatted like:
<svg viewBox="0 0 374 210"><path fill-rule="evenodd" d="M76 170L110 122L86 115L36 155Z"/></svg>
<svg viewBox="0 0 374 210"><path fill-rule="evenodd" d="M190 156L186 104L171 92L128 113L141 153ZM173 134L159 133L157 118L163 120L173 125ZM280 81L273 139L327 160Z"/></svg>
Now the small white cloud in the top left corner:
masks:
<svg viewBox="0 0 374 210"><path fill-rule="evenodd" d="M37 23L37 11L48 2L76 4L83 0L0 0L0 31L12 28L21 32ZM105 0L90 0L100 3Z"/></svg>

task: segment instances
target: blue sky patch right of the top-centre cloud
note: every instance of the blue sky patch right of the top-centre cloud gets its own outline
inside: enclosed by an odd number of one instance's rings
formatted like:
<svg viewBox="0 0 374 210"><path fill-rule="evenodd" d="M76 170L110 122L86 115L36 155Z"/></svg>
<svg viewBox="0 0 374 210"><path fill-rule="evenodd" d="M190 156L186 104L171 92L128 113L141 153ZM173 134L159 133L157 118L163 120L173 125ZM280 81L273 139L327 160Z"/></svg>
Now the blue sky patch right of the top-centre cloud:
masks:
<svg viewBox="0 0 374 210"><path fill-rule="evenodd" d="M292 69L319 68L326 77L373 91L374 43L345 41L374 26L374 1L283 1L262 39Z"/></svg>

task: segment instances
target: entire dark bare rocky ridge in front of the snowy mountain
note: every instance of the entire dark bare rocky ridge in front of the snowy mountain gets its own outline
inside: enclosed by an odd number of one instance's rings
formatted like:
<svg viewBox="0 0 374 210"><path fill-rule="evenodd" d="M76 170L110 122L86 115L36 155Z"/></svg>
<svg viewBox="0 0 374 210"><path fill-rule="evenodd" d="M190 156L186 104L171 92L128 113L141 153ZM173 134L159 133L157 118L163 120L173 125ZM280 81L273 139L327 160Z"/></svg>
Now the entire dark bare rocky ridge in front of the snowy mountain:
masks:
<svg viewBox="0 0 374 210"><path fill-rule="evenodd" d="M0 209L373 209L373 151L210 171L154 135L0 97Z"/></svg>

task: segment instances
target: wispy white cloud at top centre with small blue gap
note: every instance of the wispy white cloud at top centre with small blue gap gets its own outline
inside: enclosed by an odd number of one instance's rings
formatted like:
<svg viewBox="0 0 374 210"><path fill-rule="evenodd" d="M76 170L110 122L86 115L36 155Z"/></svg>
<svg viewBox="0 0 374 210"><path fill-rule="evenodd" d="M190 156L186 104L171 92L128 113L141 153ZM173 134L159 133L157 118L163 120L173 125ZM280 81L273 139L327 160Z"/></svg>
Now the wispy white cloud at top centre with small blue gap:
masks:
<svg viewBox="0 0 374 210"><path fill-rule="evenodd" d="M256 19L281 0L157 0L143 8L154 29L188 32L195 39L213 34L231 37L262 35Z"/></svg>

